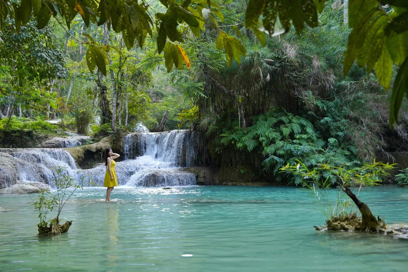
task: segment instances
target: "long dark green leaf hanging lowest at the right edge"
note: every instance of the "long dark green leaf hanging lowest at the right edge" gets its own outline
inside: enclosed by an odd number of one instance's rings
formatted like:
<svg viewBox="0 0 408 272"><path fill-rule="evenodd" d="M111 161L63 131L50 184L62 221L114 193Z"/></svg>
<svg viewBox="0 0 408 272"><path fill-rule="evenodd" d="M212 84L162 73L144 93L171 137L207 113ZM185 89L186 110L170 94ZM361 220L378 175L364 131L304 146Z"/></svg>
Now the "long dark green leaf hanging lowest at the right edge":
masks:
<svg viewBox="0 0 408 272"><path fill-rule="evenodd" d="M392 88L391 102L390 102L390 127L394 126L394 123L398 124L398 112L401 107L404 94L408 97L408 59L404 61L399 68L397 77L395 78L394 88Z"/></svg>

